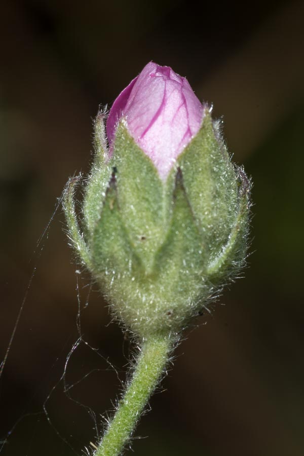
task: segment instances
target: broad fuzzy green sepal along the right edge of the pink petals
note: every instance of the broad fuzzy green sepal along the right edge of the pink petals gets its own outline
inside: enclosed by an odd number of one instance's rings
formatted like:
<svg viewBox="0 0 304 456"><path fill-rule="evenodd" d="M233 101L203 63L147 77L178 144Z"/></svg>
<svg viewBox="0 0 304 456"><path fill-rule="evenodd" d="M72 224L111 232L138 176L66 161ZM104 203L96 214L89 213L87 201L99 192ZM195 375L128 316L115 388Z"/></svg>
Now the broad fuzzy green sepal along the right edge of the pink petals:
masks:
<svg viewBox="0 0 304 456"><path fill-rule="evenodd" d="M238 185L234 165L209 109L176 165L182 170L185 191L212 261L230 237L238 208Z"/></svg>

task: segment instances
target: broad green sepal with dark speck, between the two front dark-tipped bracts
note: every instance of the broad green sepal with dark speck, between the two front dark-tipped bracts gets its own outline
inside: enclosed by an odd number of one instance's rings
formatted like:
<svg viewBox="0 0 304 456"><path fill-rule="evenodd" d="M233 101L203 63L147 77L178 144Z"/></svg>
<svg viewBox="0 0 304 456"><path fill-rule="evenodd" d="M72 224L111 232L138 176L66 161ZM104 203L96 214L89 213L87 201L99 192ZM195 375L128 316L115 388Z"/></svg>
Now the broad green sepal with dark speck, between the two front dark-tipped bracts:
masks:
<svg viewBox="0 0 304 456"><path fill-rule="evenodd" d="M153 162L130 136L124 122L116 130L111 165L126 230L149 273L163 236L163 182Z"/></svg>

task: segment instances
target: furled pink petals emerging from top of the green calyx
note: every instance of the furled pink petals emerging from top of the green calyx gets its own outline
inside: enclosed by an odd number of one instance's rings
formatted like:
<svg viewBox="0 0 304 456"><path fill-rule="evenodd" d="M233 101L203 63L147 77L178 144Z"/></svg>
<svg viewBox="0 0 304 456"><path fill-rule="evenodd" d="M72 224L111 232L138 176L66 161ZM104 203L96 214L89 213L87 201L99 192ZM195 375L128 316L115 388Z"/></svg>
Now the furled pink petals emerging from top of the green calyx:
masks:
<svg viewBox="0 0 304 456"><path fill-rule="evenodd" d="M110 151L122 117L129 133L166 179L176 158L199 131L204 107L185 78L149 62L113 103L106 124Z"/></svg>

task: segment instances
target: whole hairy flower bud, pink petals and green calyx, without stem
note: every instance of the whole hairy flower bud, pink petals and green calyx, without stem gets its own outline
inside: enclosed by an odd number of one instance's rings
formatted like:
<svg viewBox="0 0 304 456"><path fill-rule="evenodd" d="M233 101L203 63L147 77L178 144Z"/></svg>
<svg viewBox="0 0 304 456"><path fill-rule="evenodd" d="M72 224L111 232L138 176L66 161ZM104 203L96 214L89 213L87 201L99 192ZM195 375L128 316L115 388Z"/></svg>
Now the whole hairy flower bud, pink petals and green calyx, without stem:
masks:
<svg viewBox="0 0 304 456"><path fill-rule="evenodd" d="M148 63L95 122L96 159L69 236L113 314L137 336L180 332L245 263L250 184L211 110Z"/></svg>

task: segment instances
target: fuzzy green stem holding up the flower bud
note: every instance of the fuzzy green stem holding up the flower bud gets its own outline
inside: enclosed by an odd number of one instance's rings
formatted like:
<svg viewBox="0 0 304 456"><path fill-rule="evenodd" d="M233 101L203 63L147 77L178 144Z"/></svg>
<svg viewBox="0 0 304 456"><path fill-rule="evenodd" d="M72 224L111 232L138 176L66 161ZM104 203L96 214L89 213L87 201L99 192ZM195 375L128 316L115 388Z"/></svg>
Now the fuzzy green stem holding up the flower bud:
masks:
<svg viewBox="0 0 304 456"><path fill-rule="evenodd" d="M155 390L172 350L168 336L151 336L142 344L132 380L95 456L118 456L130 439L149 397Z"/></svg>

